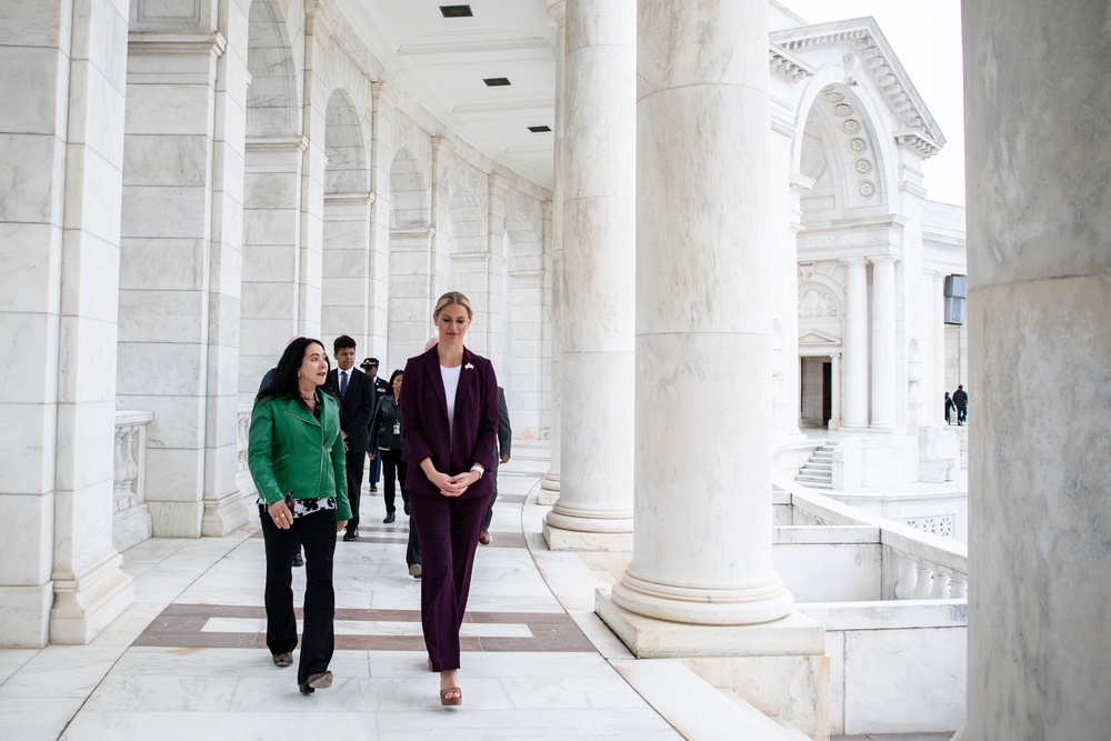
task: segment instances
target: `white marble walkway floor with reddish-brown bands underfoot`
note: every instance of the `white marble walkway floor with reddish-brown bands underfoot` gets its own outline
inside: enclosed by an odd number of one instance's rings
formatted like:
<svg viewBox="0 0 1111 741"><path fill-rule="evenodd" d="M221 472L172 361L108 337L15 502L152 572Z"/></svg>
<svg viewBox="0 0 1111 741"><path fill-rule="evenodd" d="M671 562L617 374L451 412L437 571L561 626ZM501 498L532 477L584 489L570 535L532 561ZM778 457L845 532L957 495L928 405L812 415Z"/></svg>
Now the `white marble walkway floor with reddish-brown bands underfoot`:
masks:
<svg viewBox="0 0 1111 741"><path fill-rule="evenodd" d="M420 583L404 562L408 518L379 524L381 497L364 490L371 524L358 541L337 543L331 689L301 695L296 669L270 661L263 549L252 522L226 538L153 539L127 551L134 603L91 644L0 650L0 738L764 738L728 713L707 717L705 698L688 699L670 683L668 662L638 662L601 623L594 590L612 583L628 557L548 551L540 534L548 508L537 501L547 449L521 443L514 453L499 478L493 540L476 561L461 708L439 704L424 665ZM298 604L303 588L294 569ZM868 738L948 739L844 741Z"/></svg>

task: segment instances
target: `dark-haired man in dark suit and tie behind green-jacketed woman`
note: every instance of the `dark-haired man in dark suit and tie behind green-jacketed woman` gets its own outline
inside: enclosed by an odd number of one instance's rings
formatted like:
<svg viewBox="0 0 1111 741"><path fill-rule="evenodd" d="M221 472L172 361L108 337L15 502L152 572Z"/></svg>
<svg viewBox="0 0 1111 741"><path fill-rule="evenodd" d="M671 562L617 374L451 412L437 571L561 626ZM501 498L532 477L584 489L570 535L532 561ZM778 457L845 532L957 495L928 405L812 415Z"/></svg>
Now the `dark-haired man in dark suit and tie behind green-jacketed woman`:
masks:
<svg viewBox="0 0 1111 741"><path fill-rule="evenodd" d="M367 460L370 434L367 425L374 412L374 384L354 367L354 340L347 334L336 338L332 343L336 364L328 372L328 390L340 398L340 429L347 449L348 499L351 501L351 519L347 523L343 540L359 539L359 493L362 490L362 464Z"/></svg>

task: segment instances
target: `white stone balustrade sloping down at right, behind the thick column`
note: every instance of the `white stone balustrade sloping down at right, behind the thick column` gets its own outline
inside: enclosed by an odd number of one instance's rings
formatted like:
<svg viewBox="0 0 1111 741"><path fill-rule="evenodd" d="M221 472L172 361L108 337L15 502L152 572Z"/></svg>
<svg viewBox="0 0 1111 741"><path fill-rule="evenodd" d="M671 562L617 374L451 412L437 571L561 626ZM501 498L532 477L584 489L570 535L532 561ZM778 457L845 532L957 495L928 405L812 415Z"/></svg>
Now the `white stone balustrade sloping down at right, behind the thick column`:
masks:
<svg viewBox="0 0 1111 741"><path fill-rule="evenodd" d="M968 547L915 530L777 478L775 502L825 525L874 528L882 547L881 593L888 600L964 600L969 590Z"/></svg>

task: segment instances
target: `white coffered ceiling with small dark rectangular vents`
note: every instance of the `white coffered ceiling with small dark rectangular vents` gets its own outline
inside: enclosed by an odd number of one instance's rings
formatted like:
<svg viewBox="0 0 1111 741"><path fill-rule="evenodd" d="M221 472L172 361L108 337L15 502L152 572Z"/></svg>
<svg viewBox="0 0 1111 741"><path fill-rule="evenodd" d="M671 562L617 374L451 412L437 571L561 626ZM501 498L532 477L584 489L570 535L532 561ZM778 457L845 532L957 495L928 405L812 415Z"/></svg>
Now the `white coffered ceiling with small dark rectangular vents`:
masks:
<svg viewBox="0 0 1111 741"><path fill-rule="evenodd" d="M390 74L444 129L552 188L556 29L544 0L334 0ZM446 18L441 6L471 17ZM449 11L451 12L451 11ZM483 80L504 78L490 87Z"/></svg>

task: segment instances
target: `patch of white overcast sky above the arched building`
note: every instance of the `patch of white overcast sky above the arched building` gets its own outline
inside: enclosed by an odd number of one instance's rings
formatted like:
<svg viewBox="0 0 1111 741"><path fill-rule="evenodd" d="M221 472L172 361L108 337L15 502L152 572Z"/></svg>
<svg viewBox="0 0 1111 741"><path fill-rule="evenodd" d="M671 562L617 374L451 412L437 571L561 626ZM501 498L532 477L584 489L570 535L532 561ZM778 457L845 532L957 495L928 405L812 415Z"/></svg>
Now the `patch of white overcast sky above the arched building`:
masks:
<svg viewBox="0 0 1111 741"><path fill-rule="evenodd" d="M927 198L964 206L960 0L780 0L811 23L871 16L945 137L922 163Z"/></svg>

